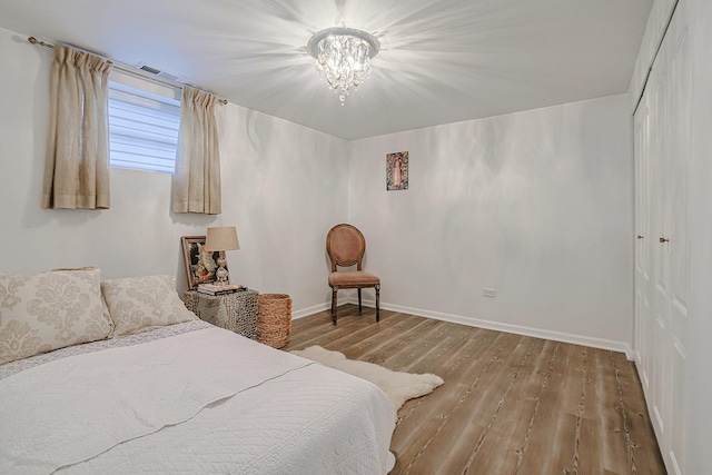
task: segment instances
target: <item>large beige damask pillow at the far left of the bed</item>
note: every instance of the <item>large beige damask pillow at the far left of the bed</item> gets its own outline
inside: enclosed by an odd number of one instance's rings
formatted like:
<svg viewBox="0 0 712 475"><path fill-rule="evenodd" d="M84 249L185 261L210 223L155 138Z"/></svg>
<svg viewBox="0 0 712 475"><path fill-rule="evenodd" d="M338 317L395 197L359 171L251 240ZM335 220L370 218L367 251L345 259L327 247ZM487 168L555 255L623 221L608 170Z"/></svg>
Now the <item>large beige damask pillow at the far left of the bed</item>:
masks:
<svg viewBox="0 0 712 475"><path fill-rule="evenodd" d="M0 274L0 364L111 334L101 270Z"/></svg>

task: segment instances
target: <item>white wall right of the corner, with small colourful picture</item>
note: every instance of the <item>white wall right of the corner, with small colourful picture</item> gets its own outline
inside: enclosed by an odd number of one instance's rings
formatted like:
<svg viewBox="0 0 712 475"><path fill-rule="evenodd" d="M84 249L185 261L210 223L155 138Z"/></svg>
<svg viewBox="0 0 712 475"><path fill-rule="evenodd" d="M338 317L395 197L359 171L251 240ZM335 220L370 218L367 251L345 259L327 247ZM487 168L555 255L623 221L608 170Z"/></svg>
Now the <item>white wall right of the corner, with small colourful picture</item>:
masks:
<svg viewBox="0 0 712 475"><path fill-rule="evenodd" d="M620 95L353 141L348 216L384 307L627 350L626 106ZM409 189L386 191L386 154L403 150Z"/></svg>

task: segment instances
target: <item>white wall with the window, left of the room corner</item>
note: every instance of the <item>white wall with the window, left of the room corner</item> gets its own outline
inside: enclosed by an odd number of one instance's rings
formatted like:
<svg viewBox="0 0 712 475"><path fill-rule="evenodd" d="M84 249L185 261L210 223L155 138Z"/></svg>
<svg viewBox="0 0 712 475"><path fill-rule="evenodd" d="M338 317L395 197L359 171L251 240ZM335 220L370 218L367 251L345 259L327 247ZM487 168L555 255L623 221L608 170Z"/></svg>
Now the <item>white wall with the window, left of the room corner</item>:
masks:
<svg viewBox="0 0 712 475"><path fill-rule="evenodd" d="M111 170L111 209L42 210L50 49L0 29L0 271L101 267L105 277L175 274L185 285L180 236L237 226L234 278L286 293L296 313L328 303L324 239L347 217L348 144L228 105L218 108L219 216L175 215L169 175Z"/></svg>

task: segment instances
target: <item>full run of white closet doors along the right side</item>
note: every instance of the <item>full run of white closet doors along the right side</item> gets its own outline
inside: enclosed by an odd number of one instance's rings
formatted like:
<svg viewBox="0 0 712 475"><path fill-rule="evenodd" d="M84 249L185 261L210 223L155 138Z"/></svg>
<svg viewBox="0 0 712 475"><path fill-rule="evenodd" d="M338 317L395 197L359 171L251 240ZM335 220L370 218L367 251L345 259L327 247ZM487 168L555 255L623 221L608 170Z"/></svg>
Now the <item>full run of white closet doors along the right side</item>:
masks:
<svg viewBox="0 0 712 475"><path fill-rule="evenodd" d="M671 473L684 473L691 46L678 3L634 117L635 345L641 382ZM636 236L636 237L637 237Z"/></svg>

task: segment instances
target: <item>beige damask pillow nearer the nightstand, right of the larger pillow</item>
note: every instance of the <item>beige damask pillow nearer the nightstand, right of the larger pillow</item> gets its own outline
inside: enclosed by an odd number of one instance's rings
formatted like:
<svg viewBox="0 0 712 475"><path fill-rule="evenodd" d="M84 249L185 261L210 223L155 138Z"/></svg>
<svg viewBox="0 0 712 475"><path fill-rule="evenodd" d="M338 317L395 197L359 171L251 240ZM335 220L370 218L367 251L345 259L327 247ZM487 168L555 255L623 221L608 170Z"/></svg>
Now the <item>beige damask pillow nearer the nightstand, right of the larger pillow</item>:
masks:
<svg viewBox="0 0 712 475"><path fill-rule="evenodd" d="M101 293L113 320L113 336L195 320L176 293L174 276L111 279L101 283Z"/></svg>

